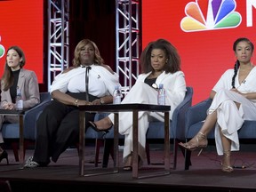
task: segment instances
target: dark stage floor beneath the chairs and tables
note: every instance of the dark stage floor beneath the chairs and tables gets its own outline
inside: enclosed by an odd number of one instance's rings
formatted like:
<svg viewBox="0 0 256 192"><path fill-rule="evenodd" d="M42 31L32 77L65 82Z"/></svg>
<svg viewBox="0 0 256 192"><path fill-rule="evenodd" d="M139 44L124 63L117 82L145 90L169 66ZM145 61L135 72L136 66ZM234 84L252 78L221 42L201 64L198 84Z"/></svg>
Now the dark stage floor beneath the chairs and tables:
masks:
<svg viewBox="0 0 256 192"><path fill-rule="evenodd" d="M172 146L171 146L172 147ZM178 151L178 164L176 170L165 176L147 179L132 179L132 172L123 171L122 149L119 152L120 169L118 173L98 175L91 177L79 176L78 156L76 148L70 148L60 156L58 163L51 163L48 167L35 169L20 169L15 162L12 150L8 150L9 165L5 159L0 164L0 180L8 180L12 191L46 191L46 190L72 190L72 191L99 191L100 189L113 191L255 191L256 190L256 165L255 151L240 151L232 154L233 163L237 167L246 166L244 169L235 169L234 172L221 172L221 157L217 156L213 146L209 146L197 156L192 153L192 166L184 170L184 157ZM26 151L26 158L33 154L33 150ZM140 175L150 172L162 172L164 151L161 147L150 148L151 164L140 168ZM100 151L100 158L102 152ZM172 154L171 154L172 158ZM101 159L100 159L101 161ZM94 169L94 147L86 147L85 171ZM99 164L100 167L101 164ZM173 164L171 164L172 166ZM110 158L108 169L111 170L113 161ZM98 170L99 168L97 168ZM94 170L95 171L95 170ZM56 189L55 189L56 188Z"/></svg>

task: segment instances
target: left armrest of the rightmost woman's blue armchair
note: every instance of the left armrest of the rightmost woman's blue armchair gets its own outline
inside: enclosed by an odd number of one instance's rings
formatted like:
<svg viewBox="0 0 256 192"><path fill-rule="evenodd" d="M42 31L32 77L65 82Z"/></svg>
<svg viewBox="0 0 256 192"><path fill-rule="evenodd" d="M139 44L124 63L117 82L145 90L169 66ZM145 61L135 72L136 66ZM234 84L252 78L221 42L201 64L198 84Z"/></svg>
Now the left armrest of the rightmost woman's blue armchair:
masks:
<svg viewBox="0 0 256 192"><path fill-rule="evenodd" d="M206 99L194 106L188 108L185 116L186 132L192 124L204 121L207 116L207 110L212 104L212 99Z"/></svg>

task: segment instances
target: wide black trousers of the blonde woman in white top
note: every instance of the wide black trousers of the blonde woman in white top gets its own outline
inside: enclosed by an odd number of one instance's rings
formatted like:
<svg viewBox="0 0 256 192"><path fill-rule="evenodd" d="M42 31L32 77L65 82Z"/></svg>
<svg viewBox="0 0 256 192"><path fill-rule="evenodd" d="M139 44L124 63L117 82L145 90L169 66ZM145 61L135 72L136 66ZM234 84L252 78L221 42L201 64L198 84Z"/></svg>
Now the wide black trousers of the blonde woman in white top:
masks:
<svg viewBox="0 0 256 192"><path fill-rule="evenodd" d="M88 121L93 121L95 114L86 113ZM36 122L36 148L33 160L47 165L52 157L57 162L60 154L79 141L79 110L59 101L52 100L44 108Z"/></svg>

